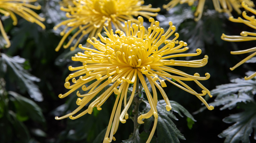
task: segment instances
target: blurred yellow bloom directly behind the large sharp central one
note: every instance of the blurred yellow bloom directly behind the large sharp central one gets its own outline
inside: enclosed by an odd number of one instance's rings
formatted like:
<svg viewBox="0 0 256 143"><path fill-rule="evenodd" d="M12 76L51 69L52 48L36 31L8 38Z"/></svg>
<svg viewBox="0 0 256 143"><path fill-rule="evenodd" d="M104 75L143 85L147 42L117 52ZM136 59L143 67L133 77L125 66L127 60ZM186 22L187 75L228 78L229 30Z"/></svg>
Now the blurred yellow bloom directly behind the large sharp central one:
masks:
<svg viewBox="0 0 256 143"><path fill-rule="evenodd" d="M103 26L108 27L110 31L112 24L116 29L124 30L124 24L122 22L131 20L134 23L139 23L133 16L144 16L150 18L151 16L157 16L160 8L151 8L151 5L142 6L143 0L73 0L74 7L68 8L61 7L60 9L66 11L66 16L70 19L65 20L57 24L54 29L59 26L65 25L66 27L60 33L62 37L55 51L59 51L64 41L71 34L72 31L76 31L69 42L64 45L64 48L68 48L75 40L74 46L70 50L74 50L80 40L89 34L89 38L96 37L96 33L102 31ZM68 30L68 28L70 28ZM81 34L80 36L78 36Z"/></svg>

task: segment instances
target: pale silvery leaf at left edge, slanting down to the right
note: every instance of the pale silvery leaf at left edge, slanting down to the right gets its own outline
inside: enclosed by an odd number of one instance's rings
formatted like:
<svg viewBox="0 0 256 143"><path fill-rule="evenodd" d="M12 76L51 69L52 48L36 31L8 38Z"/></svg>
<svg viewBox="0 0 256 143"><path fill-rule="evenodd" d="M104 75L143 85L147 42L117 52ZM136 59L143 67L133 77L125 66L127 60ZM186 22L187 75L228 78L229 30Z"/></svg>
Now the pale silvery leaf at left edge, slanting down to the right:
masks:
<svg viewBox="0 0 256 143"><path fill-rule="evenodd" d="M25 62L25 59L19 56L11 57L4 53L1 53L1 56L1 59L3 60L2 62L6 63L9 67L11 67L11 70L16 74L18 79L22 81L19 82L19 80L17 80L17 84L19 84L21 88L25 85L28 93L30 94L30 97L33 98L35 101L43 101L42 93L40 92L38 86L34 84L34 82L39 82L40 79L31 75L27 70L23 68L23 63Z"/></svg>

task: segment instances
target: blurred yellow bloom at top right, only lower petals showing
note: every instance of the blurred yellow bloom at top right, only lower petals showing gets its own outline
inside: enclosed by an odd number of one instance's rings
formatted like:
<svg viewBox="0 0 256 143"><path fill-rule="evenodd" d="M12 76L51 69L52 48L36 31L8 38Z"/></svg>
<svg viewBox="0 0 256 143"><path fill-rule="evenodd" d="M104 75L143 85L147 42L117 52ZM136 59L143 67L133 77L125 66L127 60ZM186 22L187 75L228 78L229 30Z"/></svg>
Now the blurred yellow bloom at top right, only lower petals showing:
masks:
<svg viewBox="0 0 256 143"><path fill-rule="evenodd" d="M163 8L169 10L179 3L187 3L189 6L192 6L195 3L195 1L198 1L198 5L194 15L196 17L195 21L198 21L201 19L203 15L203 7L205 4L205 0L171 0L167 5L163 5ZM251 0L212 0L213 6L216 11L225 12L229 16L232 16L231 11L233 10L233 8L236 10L238 14L241 14L241 10L239 8L242 8L241 3L243 1L247 5L249 5L249 7L254 7L253 1Z"/></svg>

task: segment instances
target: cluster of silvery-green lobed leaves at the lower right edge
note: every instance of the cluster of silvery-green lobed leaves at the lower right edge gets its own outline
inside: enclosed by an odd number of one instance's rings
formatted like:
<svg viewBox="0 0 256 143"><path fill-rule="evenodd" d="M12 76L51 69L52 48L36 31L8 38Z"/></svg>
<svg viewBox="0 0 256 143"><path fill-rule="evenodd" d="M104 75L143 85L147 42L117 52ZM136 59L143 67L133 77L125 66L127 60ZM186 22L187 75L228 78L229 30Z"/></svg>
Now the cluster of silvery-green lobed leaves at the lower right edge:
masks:
<svg viewBox="0 0 256 143"><path fill-rule="evenodd" d="M247 73L248 74L248 73ZM250 73L249 73L250 74ZM225 138L224 143L250 142L253 129L256 129L256 103L254 96L256 93L256 80L234 79L231 84L217 86L212 90L215 101L210 103L213 106L221 106L220 110L234 109L239 107L240 113L231 114L223 119L225 123L234 123L218 136ZM201 108L202 111L205 108ZM254 139L256 136L254 135Z"/></svg>

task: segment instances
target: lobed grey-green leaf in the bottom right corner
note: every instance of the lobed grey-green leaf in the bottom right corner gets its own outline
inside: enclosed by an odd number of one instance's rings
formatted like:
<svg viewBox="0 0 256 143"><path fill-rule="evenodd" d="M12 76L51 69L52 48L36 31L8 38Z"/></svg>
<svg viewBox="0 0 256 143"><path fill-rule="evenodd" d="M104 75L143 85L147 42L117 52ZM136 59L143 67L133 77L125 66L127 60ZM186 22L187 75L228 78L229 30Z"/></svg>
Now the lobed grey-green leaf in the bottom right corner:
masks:
<svg viewBox="0 0 256 143"><path fill-rule="evenodd" d="M244 112L232 114L223 119L225 123L236 122L218 135L221 138L225 137L224 143L250 142L249 136L252 129L256 130L256 104L247 103L244 104L243 108L245 109ZM255 135L254 139L256 140Z"/></svg>

